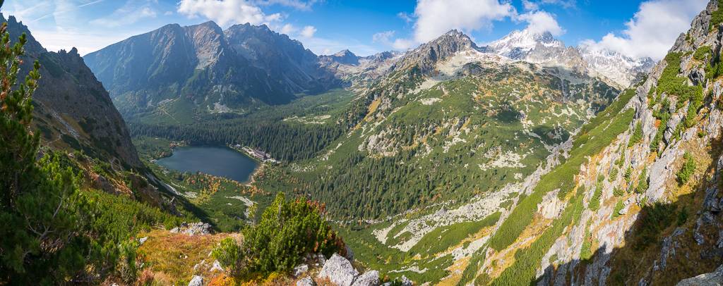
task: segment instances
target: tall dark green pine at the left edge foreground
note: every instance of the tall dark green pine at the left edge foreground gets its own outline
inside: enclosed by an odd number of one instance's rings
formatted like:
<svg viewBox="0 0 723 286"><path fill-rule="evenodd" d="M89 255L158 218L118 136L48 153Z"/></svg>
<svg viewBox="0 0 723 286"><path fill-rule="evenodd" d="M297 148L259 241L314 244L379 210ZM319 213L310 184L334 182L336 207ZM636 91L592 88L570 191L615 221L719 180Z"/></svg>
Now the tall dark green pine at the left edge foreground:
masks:
<svg viewBox="0 0 723 286"><path fill-rule="evenodd" d="M0 2L1 4L1 2ZM10 41L0 27L0 284L51 285L86 272L87 260L108 258L81 231L87 204L77 175L51 152L40 156L40 137L31 131L32 95L40 64L18 83L23 64L21 35ZM113 261L112 259L109 259ZM95 269L98 271L99 269ZM87 277L87 276L86 276Z"/></svg>

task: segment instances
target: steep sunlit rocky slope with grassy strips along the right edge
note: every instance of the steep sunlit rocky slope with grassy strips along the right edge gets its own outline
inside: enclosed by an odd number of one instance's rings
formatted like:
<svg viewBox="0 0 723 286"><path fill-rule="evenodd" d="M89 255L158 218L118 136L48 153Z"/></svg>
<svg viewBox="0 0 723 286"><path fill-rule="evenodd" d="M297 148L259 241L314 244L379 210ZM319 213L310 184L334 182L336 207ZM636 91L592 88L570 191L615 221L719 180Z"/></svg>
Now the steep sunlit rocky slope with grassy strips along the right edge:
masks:
<svg viewBox="0 0 723 286"><path fill-rule="evenodd" d="M462 282L675 285L719 267L720 13L711 1L644 82L519 188Z"/></svg>

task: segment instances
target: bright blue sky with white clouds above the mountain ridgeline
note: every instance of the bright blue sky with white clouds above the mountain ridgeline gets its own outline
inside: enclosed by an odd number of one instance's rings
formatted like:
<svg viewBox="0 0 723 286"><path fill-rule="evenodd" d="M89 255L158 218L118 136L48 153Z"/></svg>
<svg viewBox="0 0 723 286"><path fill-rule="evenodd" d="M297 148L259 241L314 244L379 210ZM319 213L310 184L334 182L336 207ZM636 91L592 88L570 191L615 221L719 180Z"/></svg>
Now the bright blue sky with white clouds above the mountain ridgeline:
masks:
<svg viewBox="0 0 723 286"><path fill-rule="evenodd" d="M451 28L484 44L525 28L550 31L568 45L628 56L664 55L706 0L7 0L49 50L81 54L168 23L213 20L266 24L317 54L361 56L414 48Z"/></svg>

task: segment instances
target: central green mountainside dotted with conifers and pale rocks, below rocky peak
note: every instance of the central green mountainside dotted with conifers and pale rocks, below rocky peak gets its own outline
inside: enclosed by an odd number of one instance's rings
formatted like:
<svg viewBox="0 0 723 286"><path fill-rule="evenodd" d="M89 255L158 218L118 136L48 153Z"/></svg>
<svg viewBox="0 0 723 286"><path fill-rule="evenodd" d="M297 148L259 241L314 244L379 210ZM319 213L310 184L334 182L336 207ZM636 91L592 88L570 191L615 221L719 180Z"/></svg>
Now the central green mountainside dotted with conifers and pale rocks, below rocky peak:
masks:
<svg viewBox="0 0 723 286"><path fill-rule="evenodd" d="M315 178L310 195L339 217L455 204L529 175L616 94L584 74L483 53L450 31L399 59L352 103L362 107L346 136L293 170Z"/></svg>

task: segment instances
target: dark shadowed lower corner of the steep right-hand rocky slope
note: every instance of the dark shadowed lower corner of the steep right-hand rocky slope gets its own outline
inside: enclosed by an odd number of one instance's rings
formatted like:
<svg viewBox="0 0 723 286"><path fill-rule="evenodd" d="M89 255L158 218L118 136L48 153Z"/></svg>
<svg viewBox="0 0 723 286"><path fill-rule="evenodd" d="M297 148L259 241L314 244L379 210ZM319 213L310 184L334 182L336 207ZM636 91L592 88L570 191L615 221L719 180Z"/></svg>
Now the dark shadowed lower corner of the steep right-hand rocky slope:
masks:
<svg viewBox="0 0 723 286"><path fill-rule="evenodd" d="M692 193L671 203L643 205L622 247L600 245L588 258L550 265L537 285L676 285L714 271L723 263L723 215L710 207L722 195L721 151L716 139L709 152L716 160Z"/></svg>

